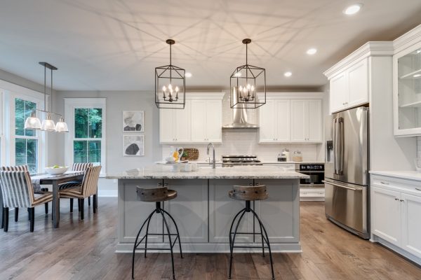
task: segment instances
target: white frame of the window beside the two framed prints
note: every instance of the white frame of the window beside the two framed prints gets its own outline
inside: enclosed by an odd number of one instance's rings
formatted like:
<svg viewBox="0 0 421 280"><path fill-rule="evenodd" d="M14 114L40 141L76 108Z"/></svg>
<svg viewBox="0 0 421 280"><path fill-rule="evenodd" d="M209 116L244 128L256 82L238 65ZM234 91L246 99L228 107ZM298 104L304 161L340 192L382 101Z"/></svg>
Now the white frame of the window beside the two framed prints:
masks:
<svg viewBox="0 0 421 280"><path fill-rule="evenodd" d="M101 141L101 176L107 174L107 99L98 98L64 98L65 121L69 127L69 133L65 137L65 164L70 166L74 162L73 141ZM74 134L74 109L102 109L101 138L75 138Z"/></svg>

